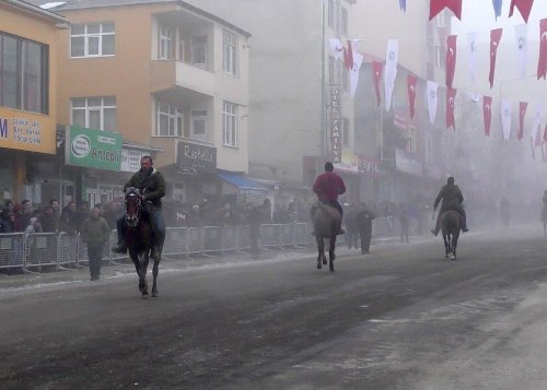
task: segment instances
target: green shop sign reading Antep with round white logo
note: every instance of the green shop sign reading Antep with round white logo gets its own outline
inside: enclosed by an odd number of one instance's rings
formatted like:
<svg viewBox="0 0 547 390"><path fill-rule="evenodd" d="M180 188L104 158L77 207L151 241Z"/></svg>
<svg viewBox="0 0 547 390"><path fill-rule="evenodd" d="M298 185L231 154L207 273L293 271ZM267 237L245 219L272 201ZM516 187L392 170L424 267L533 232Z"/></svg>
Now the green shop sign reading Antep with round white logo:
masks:
<svg viewBox="0 0 547 390"><path fill-rule="evenodd" d="M71 126L68 130L65 157L68 165L119 172L121 165L120 134Z"/></svg>

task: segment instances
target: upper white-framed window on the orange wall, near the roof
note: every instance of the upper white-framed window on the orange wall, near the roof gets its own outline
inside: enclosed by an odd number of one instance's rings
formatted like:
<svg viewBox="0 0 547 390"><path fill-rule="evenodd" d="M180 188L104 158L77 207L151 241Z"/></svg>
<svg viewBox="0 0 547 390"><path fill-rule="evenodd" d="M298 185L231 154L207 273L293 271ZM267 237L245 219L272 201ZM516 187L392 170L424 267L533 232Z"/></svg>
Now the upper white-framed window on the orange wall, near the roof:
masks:
<svg viewBox="0 0 547 390"><path fill-rule="evenodd" d="M73 24L70 26L70 57L114 56L114 23Z"/></svg>

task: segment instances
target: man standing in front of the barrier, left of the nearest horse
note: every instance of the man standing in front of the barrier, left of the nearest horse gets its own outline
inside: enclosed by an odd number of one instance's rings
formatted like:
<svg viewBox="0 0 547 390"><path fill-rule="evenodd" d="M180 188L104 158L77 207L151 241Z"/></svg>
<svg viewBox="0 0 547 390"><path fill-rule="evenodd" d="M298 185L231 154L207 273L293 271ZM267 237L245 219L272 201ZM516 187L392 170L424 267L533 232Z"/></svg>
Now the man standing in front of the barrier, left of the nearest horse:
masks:
<svg viewBox="0 0 547 390"><path fill-rule="evenodd" d="M110 227L105 218L101 216L101 210L93 208L91 214L80 227L80 236L88 244L88 258L90 261L90 274L92 281L101 279L101 260L103 248L110 235Z"/></svg>

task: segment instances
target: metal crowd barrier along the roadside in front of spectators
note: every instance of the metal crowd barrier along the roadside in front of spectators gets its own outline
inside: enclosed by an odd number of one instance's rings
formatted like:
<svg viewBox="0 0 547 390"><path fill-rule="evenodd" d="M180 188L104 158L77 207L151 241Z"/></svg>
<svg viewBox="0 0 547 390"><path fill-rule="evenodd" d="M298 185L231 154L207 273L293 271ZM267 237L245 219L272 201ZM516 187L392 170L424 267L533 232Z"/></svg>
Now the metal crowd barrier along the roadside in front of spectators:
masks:
<svg viewBox="0 0 547 390"><path fill-rule="evenodd" d="M400 227L396 217L373 221L373 236L397 235ZM248 252L257 249L302 248L315 245L307 223L263 224L259 226L200 226L167 227L163 247L164 259L216 257L225 253ZM110 251L117 241L113 231L103 249L103 261L129 261L127 255ZM339 237L340 244L344 236ZM43 267L84 267L88 248L79 235L67 233L0 234L0 269L42 271Z"/></svg>

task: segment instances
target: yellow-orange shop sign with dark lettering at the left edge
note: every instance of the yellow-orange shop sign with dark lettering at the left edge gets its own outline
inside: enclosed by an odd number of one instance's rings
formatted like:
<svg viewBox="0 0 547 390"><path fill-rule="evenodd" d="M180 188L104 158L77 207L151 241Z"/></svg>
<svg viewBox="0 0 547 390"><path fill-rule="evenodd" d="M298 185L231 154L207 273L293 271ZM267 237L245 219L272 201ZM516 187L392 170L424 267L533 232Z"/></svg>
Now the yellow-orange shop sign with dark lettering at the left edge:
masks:
<svg viewBox="0 0 547 390"><path fill-rule="evenodd" d="M47 122L0 111L0 147L55 154L55 137Z"/></svg>

